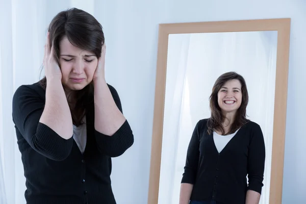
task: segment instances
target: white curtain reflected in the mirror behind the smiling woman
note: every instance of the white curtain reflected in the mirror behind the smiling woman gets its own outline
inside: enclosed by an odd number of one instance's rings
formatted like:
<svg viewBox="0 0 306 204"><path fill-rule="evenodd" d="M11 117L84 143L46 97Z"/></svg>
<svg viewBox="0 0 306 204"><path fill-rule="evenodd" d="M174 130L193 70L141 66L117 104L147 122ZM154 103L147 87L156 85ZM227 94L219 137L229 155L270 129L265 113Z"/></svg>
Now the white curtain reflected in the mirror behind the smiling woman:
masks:
<svg viewBox="0 0 306 204"><path fill-rule="evenodd" d="M224 72L243 75L247 115L261 125L266 165L261 202L269 203L277 32L169 35L159 204L179 203L187 147L199 119L210 117L209 96Z"/></svg>

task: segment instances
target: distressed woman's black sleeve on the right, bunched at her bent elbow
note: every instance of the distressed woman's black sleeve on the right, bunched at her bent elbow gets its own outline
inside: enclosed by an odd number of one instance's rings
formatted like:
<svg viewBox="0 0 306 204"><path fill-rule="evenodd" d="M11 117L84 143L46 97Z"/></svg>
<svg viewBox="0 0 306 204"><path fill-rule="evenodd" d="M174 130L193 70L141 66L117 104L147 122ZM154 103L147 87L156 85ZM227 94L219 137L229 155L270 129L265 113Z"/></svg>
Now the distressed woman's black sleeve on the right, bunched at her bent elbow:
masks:
<svg viewBox="0 0 306 204"><path fill-rule="evenodd" d="M110 85L108 86L118 109L121 113L123 113L121 101L116 89ZM121 156L134 143L134 135L131 126L129 122L127 122L127 120L125 120L125 122L121 125L121 127L113 136L110 137L95 130L95 138L100 152L110 157Z"/></svg>

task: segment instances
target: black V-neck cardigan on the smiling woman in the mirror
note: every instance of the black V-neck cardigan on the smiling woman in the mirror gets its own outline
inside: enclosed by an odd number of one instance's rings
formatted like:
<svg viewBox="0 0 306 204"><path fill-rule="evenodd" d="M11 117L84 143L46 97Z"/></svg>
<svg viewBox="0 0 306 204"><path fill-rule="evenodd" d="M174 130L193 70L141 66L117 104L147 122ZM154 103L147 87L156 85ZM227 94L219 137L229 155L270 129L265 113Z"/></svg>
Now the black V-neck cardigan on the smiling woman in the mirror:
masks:
<svg viewBox="0 0 306 204"><path fill-rule="evenodd" d="M247 190L261 193L263 187L265 143L262 130L257 123L249 121L219 154L213 134L207 133L207 121L202 119L195 126L182 183L193 184L191 200L244 204Z"/></svg>

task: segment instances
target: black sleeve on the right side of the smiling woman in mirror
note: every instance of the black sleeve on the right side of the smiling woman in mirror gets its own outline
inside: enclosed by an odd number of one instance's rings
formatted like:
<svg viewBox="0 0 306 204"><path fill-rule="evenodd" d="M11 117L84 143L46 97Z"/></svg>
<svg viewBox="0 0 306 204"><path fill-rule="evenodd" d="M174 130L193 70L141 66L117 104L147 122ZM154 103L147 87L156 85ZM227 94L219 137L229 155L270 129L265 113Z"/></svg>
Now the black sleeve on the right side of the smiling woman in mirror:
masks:
<svg viewBox="0 0 306 204"><path fill-rule="evenodd" d="M251 141L248 150L247 174L248 190L261 194L265 170L265 141L261 127L257 124L252 130Z"/></svg>

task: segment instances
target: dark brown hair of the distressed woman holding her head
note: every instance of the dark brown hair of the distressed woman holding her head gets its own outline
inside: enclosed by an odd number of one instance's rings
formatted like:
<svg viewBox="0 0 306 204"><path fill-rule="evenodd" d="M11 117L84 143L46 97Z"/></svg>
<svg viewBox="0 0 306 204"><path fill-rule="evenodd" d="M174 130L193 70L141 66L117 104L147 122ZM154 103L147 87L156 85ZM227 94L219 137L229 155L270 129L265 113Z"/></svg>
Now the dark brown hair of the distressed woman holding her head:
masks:
<svg viewBox="0 0 306 204"><path fill-rule="evenodd" d="M105 42L101 24L89 13L71 8L58 13L48 27L50 44L55 49L55 59L59 63L60 41L67 37L69 42L81 49L93 52L97 58L101 56L101 47ZM46 88L46 78L39 81ZM86 108L93 103L93 83L91 82L82 90L74 91L73 101L75 106L70 107L72 122L75 125L83 123Z"/></svg>

